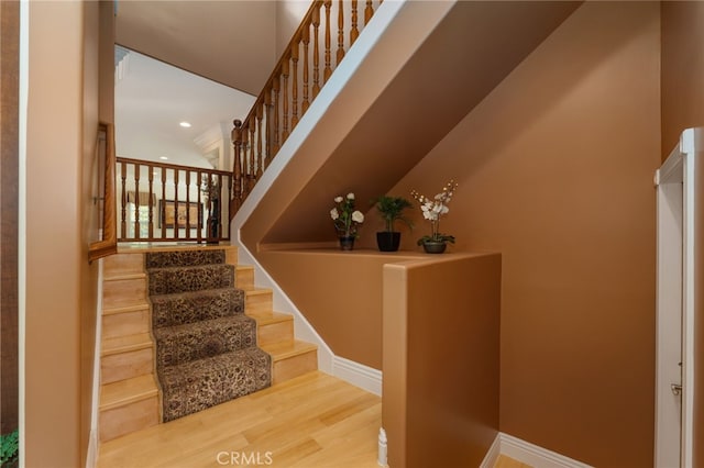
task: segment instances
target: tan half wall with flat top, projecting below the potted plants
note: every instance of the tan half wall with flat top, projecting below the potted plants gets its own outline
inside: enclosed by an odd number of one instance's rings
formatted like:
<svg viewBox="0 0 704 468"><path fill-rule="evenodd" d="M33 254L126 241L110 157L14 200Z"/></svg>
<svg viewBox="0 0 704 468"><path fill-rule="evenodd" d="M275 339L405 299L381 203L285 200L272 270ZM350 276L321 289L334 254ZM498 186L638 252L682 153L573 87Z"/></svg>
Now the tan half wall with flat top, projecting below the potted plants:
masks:
<svg viewBox="0 0 704 468"><path fill-rule="evenodd" d="M480 466L498 432L499 255L384 267L383 425L398 467Z"/></svg>

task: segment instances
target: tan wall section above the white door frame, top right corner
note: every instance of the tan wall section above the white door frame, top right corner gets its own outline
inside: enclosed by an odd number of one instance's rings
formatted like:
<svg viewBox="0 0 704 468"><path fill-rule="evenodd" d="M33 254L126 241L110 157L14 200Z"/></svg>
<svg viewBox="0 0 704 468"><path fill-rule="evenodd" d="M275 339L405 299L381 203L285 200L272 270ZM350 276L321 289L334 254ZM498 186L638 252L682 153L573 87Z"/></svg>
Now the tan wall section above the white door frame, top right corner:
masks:
<svg viewBox="0 0 704 468"><path fill-rule="evenodd" d="M683 130L704 125L704 2L663 1L662 160Z"/></svg>

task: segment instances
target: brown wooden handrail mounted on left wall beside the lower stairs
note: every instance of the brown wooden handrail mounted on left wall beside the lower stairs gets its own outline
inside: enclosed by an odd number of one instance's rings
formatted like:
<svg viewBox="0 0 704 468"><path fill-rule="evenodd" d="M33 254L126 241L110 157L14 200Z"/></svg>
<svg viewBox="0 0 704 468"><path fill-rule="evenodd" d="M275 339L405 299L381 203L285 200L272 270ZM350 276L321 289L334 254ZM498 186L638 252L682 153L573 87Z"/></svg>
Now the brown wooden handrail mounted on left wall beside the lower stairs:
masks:
<svg viewBox="0 0 704 468"><path fill-rule="evenodd" d="M105 133L106 138L105 188L102 193L102 239L90 244L88 248L88 261L107 257L118 252L117 219L114 215L114 125L101 122L98 125L98 134L100 133Z"/></svg>

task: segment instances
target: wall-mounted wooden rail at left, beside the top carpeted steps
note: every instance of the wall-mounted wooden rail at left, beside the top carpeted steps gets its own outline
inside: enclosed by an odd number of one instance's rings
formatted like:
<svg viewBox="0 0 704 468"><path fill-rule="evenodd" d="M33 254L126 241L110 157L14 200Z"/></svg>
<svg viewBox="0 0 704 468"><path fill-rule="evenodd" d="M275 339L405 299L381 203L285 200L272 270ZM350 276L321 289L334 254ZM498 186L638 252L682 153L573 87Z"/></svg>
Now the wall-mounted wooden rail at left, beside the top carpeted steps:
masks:
<svg viewBox="0 0 704 468"><path fill-rule="evenodd" d="M102 219L99 226L99 231L101 231L102 234L100 241L90 244L88 248L88 261L107 257L118 252L114 218L114 125L111 123L100 123L98 125L95 160L98 167L96 178L100 179L101 172L103 172L102 191L98 190L94 199L94 205L99 205L98 212L102 211ZM105 161L105 166L102 161ZM98 183L98 187L100 187L100 183Z"/></svg>

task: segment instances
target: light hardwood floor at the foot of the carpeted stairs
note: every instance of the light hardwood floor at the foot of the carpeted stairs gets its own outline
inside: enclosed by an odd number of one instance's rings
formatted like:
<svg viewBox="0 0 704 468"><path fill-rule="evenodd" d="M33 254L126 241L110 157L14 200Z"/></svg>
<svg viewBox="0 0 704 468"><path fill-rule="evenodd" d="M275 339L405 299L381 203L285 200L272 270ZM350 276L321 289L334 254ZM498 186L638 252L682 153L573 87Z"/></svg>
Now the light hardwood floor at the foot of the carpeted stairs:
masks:
<svg viewBox="0 0 704 468"><path fill-rule="evenodd" d="M98 468L378 468L382 400L320 371L100 445Z"/></svg>

